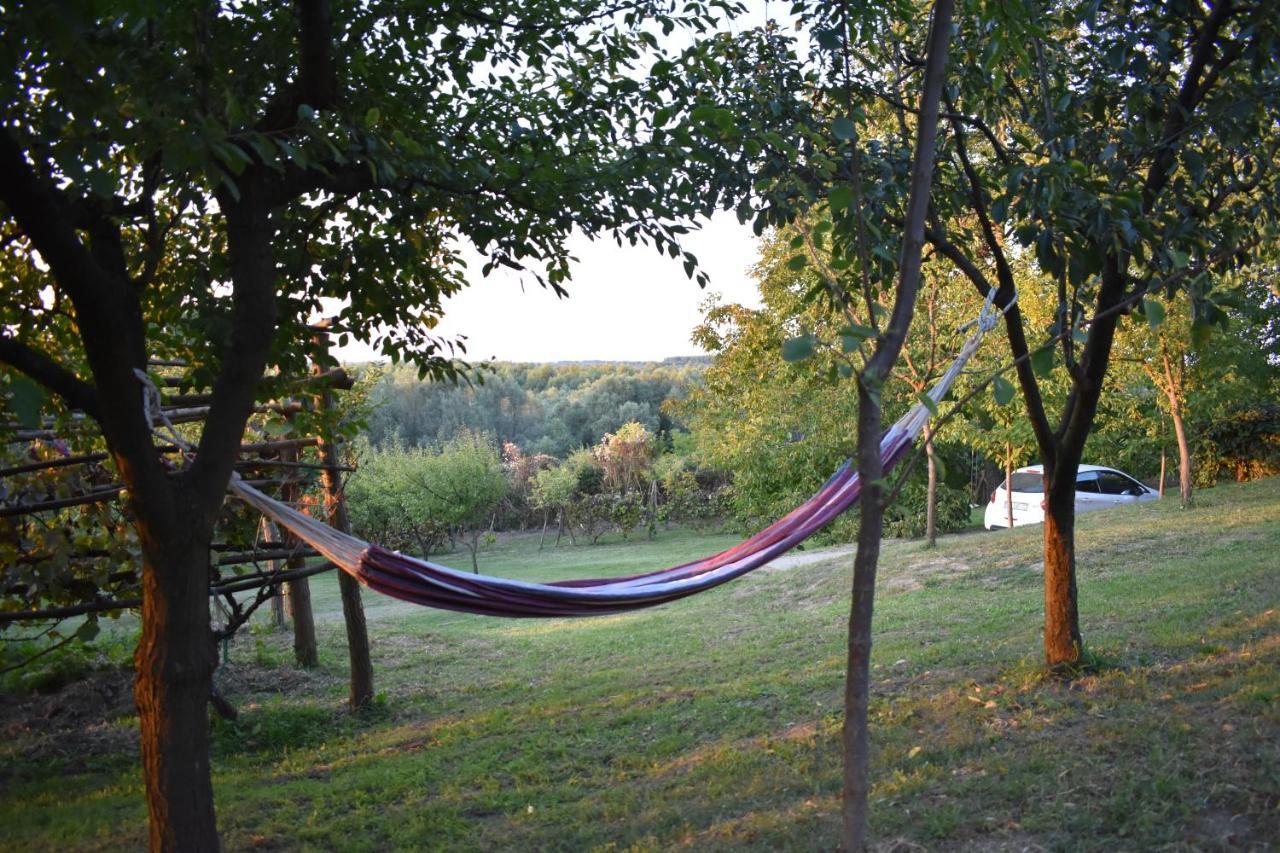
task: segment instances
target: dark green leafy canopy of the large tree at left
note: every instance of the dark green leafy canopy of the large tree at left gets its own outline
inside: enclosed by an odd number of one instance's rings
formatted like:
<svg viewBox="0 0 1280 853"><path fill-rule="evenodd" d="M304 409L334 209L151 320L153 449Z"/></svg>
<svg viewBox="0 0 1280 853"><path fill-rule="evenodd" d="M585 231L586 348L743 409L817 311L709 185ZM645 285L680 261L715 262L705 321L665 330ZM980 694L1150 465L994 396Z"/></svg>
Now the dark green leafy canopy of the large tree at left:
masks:
<svg viewBox="0 0 1280 853"><path fill-rule="evenodd" d="M232 324L219 214L247 193L273 210L274 361L317 355L305 324L337 311L339 342L456 375L465 343L431 329L466 283L467 246L483 272L561 293L575 232L650 243L705 283L684 223L748 195L791 151L765 129L804 109L776 32L659 50L677 28L708 31L718 5L300 4L298 29L288 4L141 3L109 22L10 4L6 165L92 229L93 260L136 287L148 350L197 378ZM49 305L49 272L26 263L54 247L8 229L3 319L58 351L76 310Z"/></svg>

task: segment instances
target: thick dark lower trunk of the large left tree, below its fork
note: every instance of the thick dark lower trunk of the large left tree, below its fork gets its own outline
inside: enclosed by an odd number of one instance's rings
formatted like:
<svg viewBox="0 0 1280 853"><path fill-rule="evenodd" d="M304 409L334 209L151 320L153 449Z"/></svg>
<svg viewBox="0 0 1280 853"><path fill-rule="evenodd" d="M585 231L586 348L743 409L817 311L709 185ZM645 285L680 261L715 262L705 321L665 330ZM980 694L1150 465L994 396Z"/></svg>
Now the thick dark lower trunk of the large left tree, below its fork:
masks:
<svg viewBox="0 0 1280 853"><path fill-rule="evenodd" d="M133 698L142 733L148 849L218 850L209 698L218 652L209 620L209 542L143 538L142 638Z"/></svg>

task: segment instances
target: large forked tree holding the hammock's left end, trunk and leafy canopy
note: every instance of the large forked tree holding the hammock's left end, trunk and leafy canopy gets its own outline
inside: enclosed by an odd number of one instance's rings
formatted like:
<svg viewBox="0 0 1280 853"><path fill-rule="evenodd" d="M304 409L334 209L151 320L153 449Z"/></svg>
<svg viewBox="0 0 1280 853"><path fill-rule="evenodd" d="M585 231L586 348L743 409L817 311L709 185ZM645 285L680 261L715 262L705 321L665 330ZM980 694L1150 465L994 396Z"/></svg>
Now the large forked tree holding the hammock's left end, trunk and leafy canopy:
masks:
<svg viewBox="0 0 1280 853"><path fill-rule="evenodd" d="M655 56L719 5L0 8L0 362L92 418L128 491L154 849L218 847L209 544L266 366L325 362L307 324L337 300L339 342L457 375L431 328L460 241L557 291L573 232L681 256L681 223L774 158L745 141L808 109L774 35ZM141 402L151 357L212 389L178 473Z"/></svg>

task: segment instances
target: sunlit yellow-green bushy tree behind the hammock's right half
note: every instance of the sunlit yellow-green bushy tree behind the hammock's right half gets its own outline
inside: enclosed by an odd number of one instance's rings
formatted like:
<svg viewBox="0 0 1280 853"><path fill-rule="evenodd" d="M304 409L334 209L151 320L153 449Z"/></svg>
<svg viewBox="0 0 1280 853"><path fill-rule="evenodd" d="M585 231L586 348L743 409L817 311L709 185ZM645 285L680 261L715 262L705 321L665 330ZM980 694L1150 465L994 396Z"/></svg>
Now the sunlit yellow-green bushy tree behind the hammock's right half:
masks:
<svg viewBox="0 0 1280 853"><path fill-rule="evenodd" d="M822 252L813 251L814 261L800 268L790 263L795 238L803 237L799 228L780 231L764 242L754 269L763 307L707 304L695 339L712 352L712 365L704 384L672 406L689 421L698 453L712 466L732 471L730 502L745 529L790 512L852 456L858 401L841 379L858 345L851 342L846 350L847 320L833 318L809 298L823 280L817 269ZM780 365L782 345L797 339L797 333L812 342L810 352ZM896 418L915 405L916 389L897 377L883 400ZM965 501L959 494L951 503ZM954 521L963 524L959 515ZM899 532L914 526L895 523ZM845 539L855 530L849 516L827 535Z"/></svg>

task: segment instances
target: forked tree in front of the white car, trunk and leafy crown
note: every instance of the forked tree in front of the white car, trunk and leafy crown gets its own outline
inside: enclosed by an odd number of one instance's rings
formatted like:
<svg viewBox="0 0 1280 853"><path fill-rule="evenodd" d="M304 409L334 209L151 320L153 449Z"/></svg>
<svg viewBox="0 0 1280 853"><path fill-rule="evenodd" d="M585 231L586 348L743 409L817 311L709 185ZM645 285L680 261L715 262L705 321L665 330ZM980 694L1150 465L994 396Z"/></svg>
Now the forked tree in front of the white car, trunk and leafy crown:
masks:
<svg viewBox="0 0 1280 853"><path fill-rule="evenodd" d="M1188 292L1224 315L1215 273L1274 227L1280 56L1274 3L1055 3L975 10L956 44L946 152L927 240L975 288L998 287L1044 465L1044 657L1082 653L1075 475L1116 324ZM874 96L910 108L892 90ZM1019 257L1051 282L1051 343L1019 305ZM1039 280L1039 279L1037 279ZM1057 407L1042 375L1065 371Z"/></svg>

